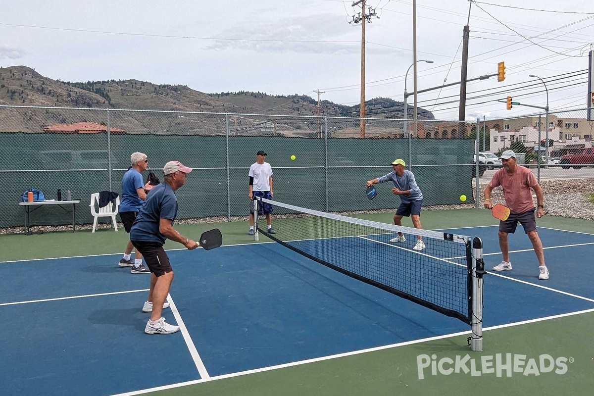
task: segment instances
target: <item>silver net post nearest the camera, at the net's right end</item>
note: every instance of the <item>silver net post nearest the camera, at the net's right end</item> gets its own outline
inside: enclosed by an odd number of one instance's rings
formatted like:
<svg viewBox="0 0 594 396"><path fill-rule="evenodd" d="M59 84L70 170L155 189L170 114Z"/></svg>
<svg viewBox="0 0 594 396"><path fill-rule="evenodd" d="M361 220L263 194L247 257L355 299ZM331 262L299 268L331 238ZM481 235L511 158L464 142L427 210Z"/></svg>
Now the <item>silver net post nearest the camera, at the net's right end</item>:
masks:
<svg viewBox="0 0 594 396"><path fill-rule="evenodd" d="M482 240L475 237L472 240L472 315L470 317L472 334L470 335L470 348L473 351L482 351L482 307L483 307L483 275L486 274L485 262L482 254Z"/></svg>

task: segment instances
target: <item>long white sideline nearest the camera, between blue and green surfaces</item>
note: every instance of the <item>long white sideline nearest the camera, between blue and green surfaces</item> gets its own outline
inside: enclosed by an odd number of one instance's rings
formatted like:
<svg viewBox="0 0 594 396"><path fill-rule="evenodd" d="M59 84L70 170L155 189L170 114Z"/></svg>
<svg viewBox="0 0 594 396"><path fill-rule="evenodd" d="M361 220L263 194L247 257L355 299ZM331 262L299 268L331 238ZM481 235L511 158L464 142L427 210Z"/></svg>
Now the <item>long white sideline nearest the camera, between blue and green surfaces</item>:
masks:
<svg viewBox="0 0 594 396"><path fill-rule="evenodd" d="M548 321L551 319L566 318L568 316L582 315L584 313L590 313L590 312L594 312L594 308L585 309L583 311L560 313L559 315L545 316L544 318L529 319L529 320L521 321L521 322L514 322L514 323L509 323L509 324L504 324L504 325L486 327L482 331L485 332L485 331L497 330L497 329L501 329L501 328L520 326L520 325L525 325L525 324L530 324L530 323L544 322L544 321ZM398 347L414 345L414 344L421 344L421 343L435 341L435 340L443 340L445 338L458 337L460 335L466 335L466 334L471 334L471 333L472 333L472 331L460 331L460 332L455 332L455 333L451 333L451 334L437 335L435 337L422 338L421 340L406 341L403 343L390 344L390 345L381 346L381 347L374 347L374 348L369 348L369 349L362 349L362 350L357 350L357 351L339 353L339 354L334 354L334 355L330 355L330 356L316 357L314 359L301 360L299 362L284 363L282 365L269 366L269 367L253 369L253 370L246 370L246 371L230 373L230 374L225 374L225 375L218 375L218 376L210 377L208 379L195 379L194 381L179 382L178 384L164 385L162 387L155 387L155 388L149 388L149 389L141 389L139 391L119 393L119 394L114 394L111 396L142 395L142 394L146 394L149 392L164 391L167 389L186 387L188 385L201 384L203 382L218 381L219 379L233 378L233 377L244 376L244 375L249 375L249 374L254 374L254 373L267 372L267 371L271 371L271 370L284 369L284 368L289 368L289 367L294 367L294 366L301 366L301 365L306 365L308 363L323 362L324 360L338 359L340 357L354 356L354 355L358 355L358 354L364 354L364 353L386 350L386 349L395 349Z"/></svg>

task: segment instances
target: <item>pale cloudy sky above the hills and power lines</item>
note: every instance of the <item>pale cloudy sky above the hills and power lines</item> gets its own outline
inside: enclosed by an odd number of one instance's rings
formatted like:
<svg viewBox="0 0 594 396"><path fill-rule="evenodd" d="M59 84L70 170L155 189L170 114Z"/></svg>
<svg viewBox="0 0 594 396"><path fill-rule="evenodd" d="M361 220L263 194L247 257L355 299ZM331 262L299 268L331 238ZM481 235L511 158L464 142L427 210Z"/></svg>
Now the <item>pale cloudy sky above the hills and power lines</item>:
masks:
<svg viewBox="0 0 594 396"><path fill-rule="evenodd" d="M489 4L490 3L490 4ZM366 0L365 99L403 100L413 63L412 0ZM494 4L506 5L508 8ZM460 81L470 26L466 119L510 118L586 107L594 7L583 0L416 1L417 90ZM0 66L24 65L62 81L128 80L187 85L204 93L307 94L353 105L361 99L361 7L340 0L6 2ZM33 10L33 11L31 11ZM555 11L543 12L536 10ZM470 16L469 16L470 15ZM349 23L351 22L351 23ZM431 60L433 64L420 62ZM575 73L574 73L575 72ZM406 88L413 92L413 68ZM458 118L459 85L418 94L437 119ZM451 103L448 103L451 102ZM413 103L410 96L408 103Z"/></svg>

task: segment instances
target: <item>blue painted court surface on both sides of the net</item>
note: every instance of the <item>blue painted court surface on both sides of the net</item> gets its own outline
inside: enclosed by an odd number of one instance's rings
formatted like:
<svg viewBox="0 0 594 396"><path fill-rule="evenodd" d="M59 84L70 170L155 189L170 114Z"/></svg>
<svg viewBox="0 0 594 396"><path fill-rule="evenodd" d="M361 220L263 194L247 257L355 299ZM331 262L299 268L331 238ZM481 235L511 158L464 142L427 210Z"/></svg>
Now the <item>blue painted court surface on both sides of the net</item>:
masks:
<svg viewBox="0 0 594 396"><path fill-rule="evenodd" d="M594 308L594 235L540 228L539 281L523 230L503 273L497 227L453 232L484 242L484 327ZM168 254L172 335L144 334L149 276L120 255L0 263L3 394L115 395L470 330L278 243Z"/></svg>

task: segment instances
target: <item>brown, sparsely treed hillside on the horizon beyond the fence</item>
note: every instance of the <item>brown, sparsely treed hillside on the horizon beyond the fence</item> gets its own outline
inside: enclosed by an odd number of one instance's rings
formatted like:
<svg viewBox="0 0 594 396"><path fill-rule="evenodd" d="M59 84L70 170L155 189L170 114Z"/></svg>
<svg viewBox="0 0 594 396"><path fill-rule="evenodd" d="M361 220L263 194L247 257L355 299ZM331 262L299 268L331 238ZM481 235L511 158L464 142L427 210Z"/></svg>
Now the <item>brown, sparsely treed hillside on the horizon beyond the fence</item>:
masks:
<svg viewBox="0 0 594 396"><path fill-rule="evenodd" d="M304 95L270 95L247 91L227 93L203 93L192 90L185 85L153 84L138 80L109 80L69 82L52 80L44 77L27 66L10 66L0 68L0 104L14 106L46 106L46 107L80 107L86 109L141 109L165 110L174 112L213 112L213 113L246 113L261 115L287 116L347 116L357 117L359 106L344 106L323 100L318 110L317 101ZM402 118L402 102L392 99L377 98L366 102L366 115L378 118ZM409 114L412 107L409 107ZM419 116L433 119L430 112L418 110ZM138 113L121 113L118 128L130 133L208 133L217 134L225 128L222 116L211 116L212 119L194 118L189 120L177 116L175 122L160 116L138 116ZM301 129L296 122L284 123L289 129ZM10 127L11 131L37 131L42 126L53 123L71 123L81 121L105 122L99 119L84 119L64 110L53 112L29 110L23 117L22 125ZM261 120L246 121L246 125L263 123ZM270 121L268 119L268 121ZM302 122L301 122L302 123ZM249 127L251 128L251 127ZM276 126L275 126L276 128ZM257 131L254 131L257 134Z"/></svg>

